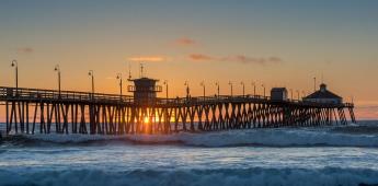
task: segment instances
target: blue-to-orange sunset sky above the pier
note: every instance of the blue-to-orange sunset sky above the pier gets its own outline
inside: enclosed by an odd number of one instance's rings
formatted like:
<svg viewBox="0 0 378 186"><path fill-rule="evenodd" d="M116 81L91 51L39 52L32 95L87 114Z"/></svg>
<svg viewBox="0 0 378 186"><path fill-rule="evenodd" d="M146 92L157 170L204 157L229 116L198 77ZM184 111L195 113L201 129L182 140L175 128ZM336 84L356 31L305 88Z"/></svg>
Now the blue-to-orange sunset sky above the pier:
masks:
<svg viewBox="0 0 378 186"><path fill-rule="evenodd" d="M193 95L201 81L214 95L219 81L241 94L241 81L313 91L323 74L332 92L357 104L359 118L378 118L376 0L2 0L0 85L117 93L116 73L131 66L169 81L170 96ZM160 96L164 96L162 93Z"/></svg>

